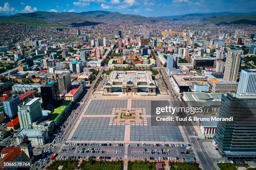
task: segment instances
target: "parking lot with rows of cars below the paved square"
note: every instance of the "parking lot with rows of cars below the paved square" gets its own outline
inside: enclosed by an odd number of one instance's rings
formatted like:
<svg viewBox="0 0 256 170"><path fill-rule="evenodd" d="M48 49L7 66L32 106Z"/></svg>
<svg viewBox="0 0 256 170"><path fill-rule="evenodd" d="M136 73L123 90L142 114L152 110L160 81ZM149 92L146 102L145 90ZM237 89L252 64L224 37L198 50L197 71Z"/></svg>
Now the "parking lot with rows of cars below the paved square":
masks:
<svg viewBox="0 0 256 170"><path fill-rule="evenodd" d="M111 145L111 144L110 144ZM66 145L59 153L58 158L78 158L87 159L94 157L96 159L141 159L144 160L182 160L195 161L195 155L192 150L186 149L186 145L164 145L159 144L112 144L111 146L99 146L99 144L91 145ZM77 148L79 147L79 148ZM125 148L127 154L125 155Z"/></svg>

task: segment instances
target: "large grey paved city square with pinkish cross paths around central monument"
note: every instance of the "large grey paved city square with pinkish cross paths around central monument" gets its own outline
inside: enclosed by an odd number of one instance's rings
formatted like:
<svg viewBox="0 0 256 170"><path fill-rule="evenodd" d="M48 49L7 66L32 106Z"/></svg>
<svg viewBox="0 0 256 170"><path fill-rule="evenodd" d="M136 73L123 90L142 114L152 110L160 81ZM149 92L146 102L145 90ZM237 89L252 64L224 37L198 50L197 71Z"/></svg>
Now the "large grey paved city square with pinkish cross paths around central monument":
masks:
<svg viewBox="0 0 256 170"><path fill-rule="evenodd" d="M70 133L68 141L74 143L186 143L179 126L151 126L151 101L142 99L91 99ZM168 100L161 100L169 105ZM142 121L116 122L118 110L137 110ZM137 114L137 113L136 113ZM70 140L69 140L70 139Z"/></svg>

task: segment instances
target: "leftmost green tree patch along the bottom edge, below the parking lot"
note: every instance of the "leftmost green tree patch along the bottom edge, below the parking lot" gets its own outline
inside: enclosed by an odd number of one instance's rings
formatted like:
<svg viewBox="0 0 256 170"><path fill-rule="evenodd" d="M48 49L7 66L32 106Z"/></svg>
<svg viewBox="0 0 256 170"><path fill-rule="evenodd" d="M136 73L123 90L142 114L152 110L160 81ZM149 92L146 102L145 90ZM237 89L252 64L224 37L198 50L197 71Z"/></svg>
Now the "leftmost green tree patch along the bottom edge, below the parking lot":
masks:
<svg viewBox="0 0 256 170"><path fill-rule="evenodd" d="M61 170L74 170L77 168L78 160L55 160L53 163L51 163L47 169L48 170L58 170L59 168L62 168ZM60 167L62 166L62 167Z"/></svg>

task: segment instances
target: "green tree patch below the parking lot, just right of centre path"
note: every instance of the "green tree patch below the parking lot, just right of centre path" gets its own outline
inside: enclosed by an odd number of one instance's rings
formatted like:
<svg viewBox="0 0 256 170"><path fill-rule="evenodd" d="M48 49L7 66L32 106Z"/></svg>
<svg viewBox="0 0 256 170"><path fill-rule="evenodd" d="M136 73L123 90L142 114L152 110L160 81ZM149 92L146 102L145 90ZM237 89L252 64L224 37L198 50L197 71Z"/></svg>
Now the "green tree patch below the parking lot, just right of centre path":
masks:
<svg viewBox="0 0 256 170"><path fill-rule="evenodd" d="M156 170L156 162L134 160L128 162L128 170Z"/></svg>

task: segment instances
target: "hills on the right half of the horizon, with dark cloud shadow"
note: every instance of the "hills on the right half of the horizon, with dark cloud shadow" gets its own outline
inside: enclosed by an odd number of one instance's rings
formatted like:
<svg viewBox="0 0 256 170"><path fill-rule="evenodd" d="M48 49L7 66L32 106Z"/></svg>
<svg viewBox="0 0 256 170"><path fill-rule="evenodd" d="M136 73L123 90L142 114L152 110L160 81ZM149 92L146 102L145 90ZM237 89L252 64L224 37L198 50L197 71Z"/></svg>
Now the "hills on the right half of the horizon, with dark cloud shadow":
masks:
<svg viewBox="0 0 256 170"><path fill-rule="evenodd" d="M175 15L175 16L163 16L161 17L166 20L200 20L200 21L209 21L213 24L220 23L239 23L246 24L250 23L246 20L256 21L256 12L251 13L230 13L230 12L222 12L222 13L192 13L185 15ZM240 20L240 22L235 22Z"/></svg>

